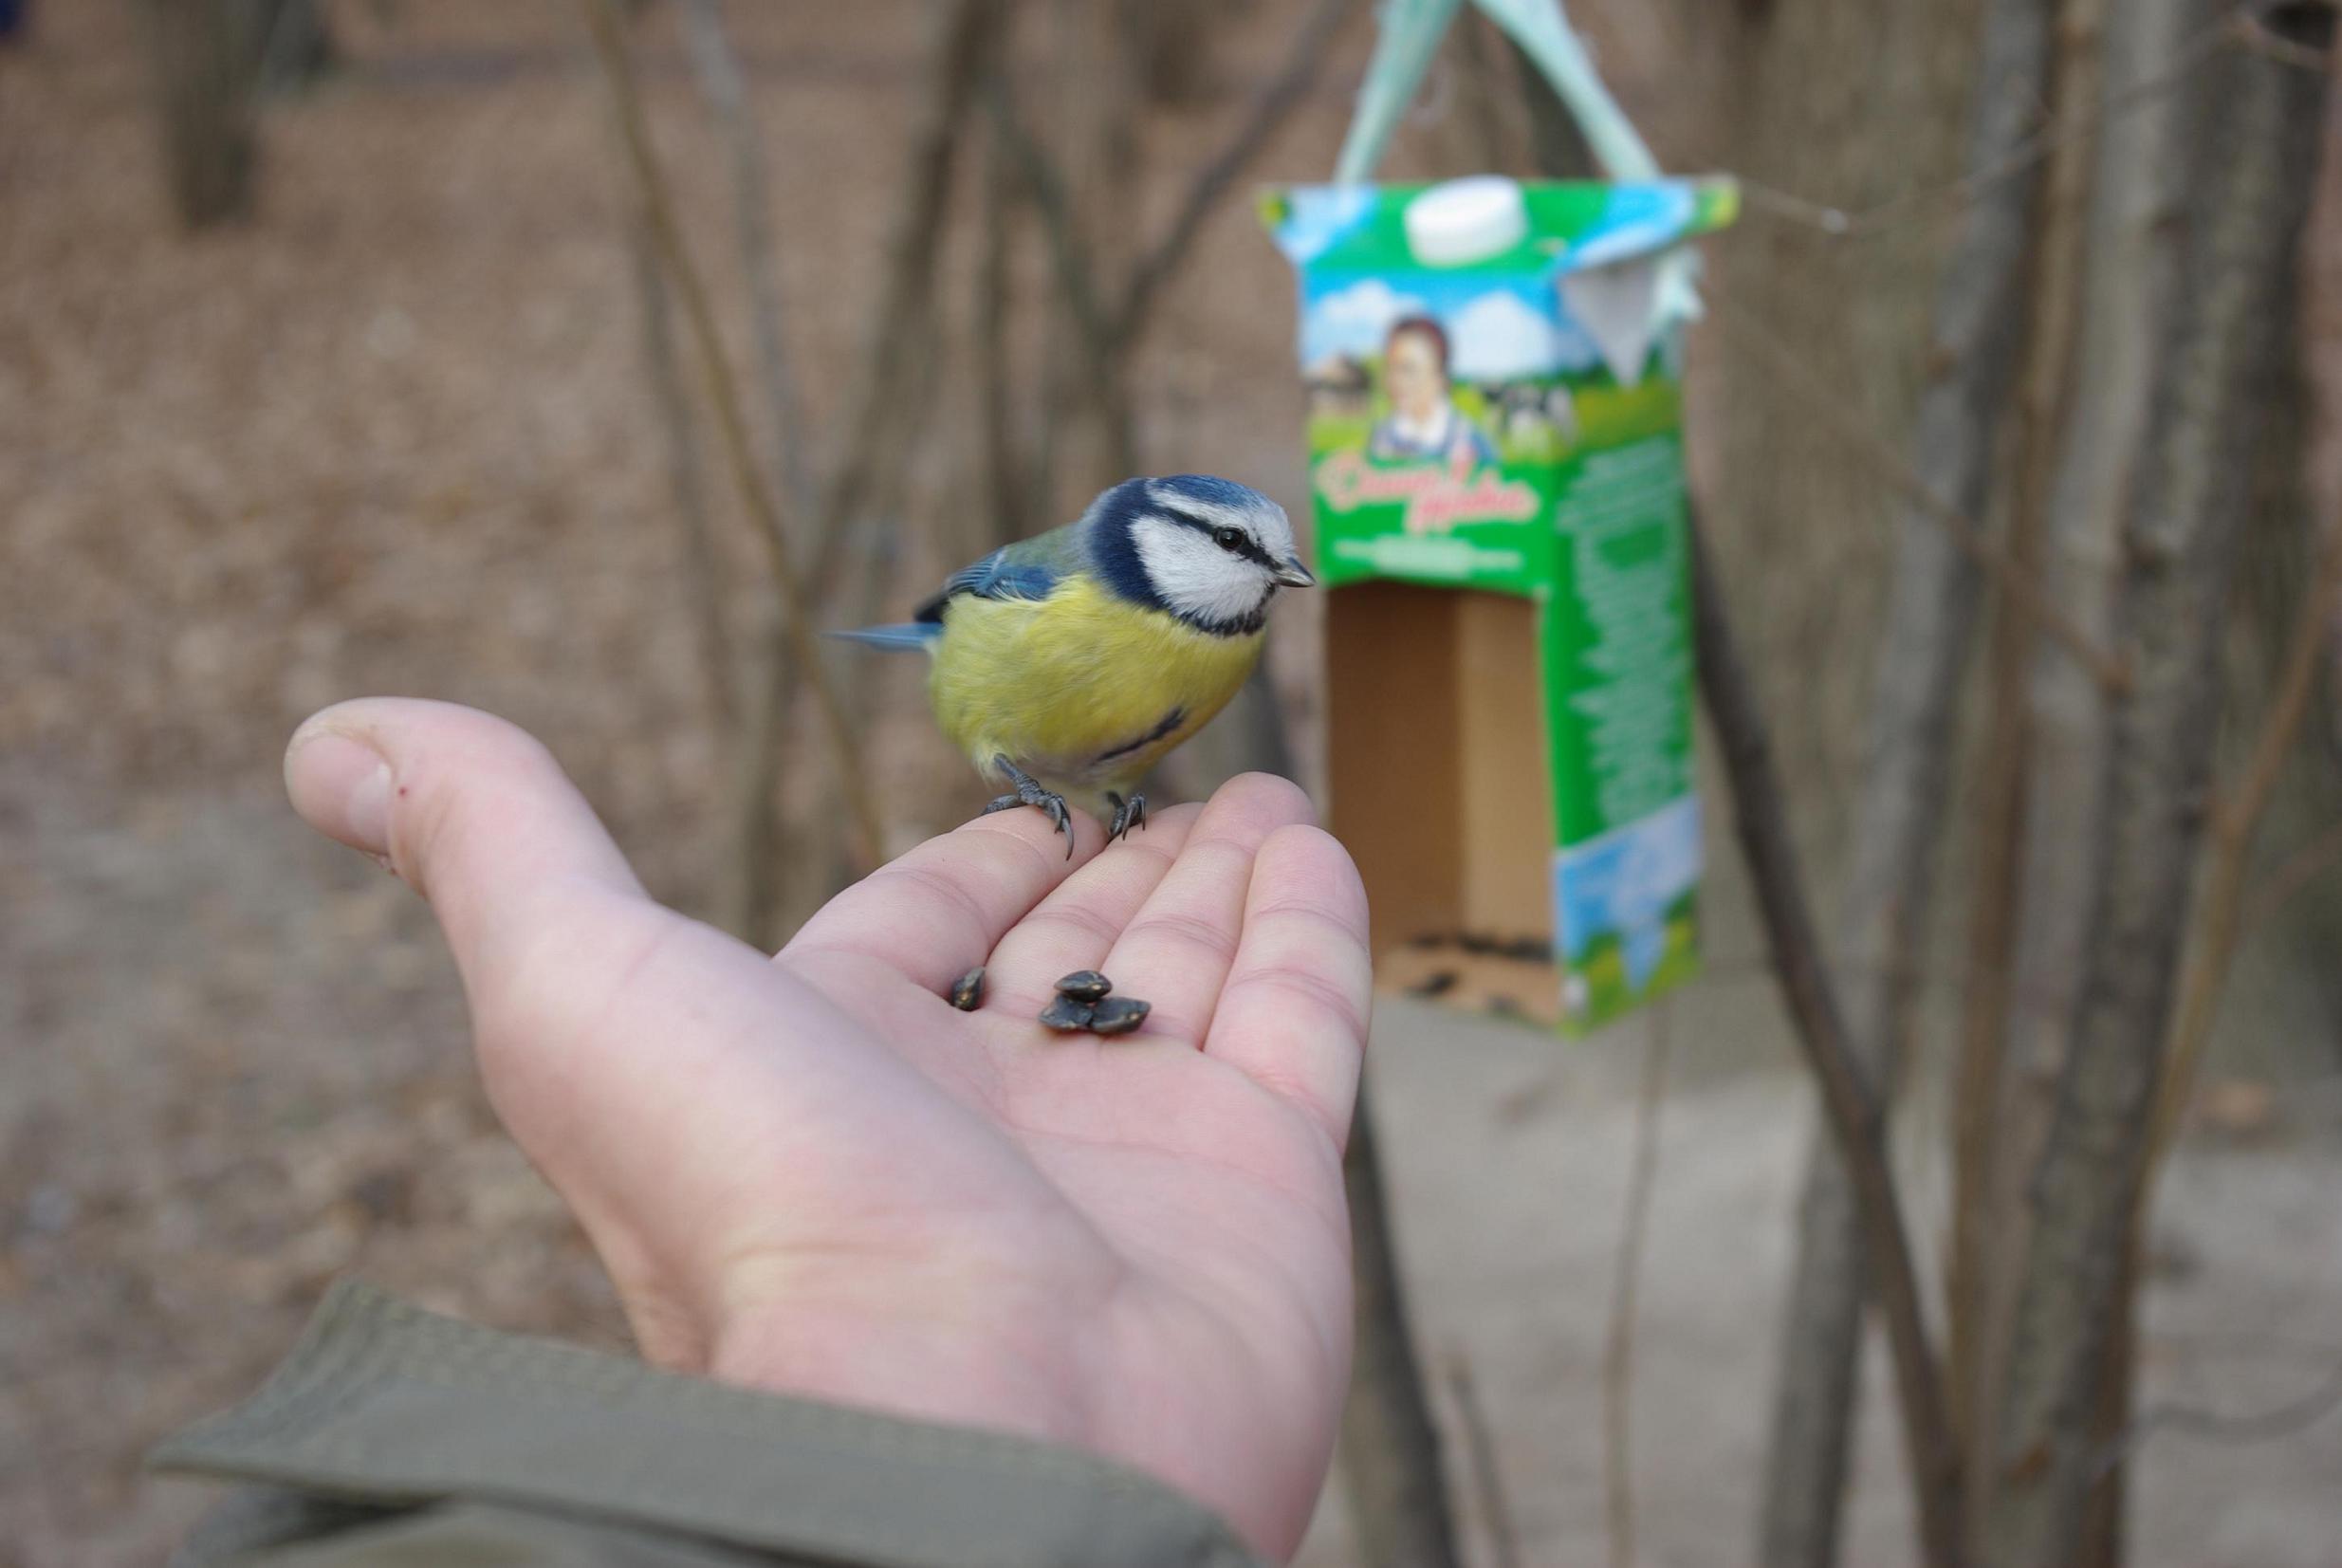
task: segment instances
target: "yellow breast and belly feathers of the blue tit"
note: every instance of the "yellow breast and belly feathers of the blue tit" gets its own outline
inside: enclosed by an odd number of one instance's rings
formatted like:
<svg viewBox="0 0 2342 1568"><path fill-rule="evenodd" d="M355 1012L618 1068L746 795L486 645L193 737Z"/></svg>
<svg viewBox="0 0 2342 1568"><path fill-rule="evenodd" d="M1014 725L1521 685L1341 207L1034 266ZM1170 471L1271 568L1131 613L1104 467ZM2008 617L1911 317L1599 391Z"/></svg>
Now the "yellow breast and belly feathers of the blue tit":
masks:
<svg viewBox="0 0 2342 1568"><path fill-rule="evenodd" d="M1096 803L1129 793L1227 707L1260 646L1260 632L1213 637L1066 578L1047 599L953 599L927 693L944 735L995 784L993 756L1007 756Z"/></svg>

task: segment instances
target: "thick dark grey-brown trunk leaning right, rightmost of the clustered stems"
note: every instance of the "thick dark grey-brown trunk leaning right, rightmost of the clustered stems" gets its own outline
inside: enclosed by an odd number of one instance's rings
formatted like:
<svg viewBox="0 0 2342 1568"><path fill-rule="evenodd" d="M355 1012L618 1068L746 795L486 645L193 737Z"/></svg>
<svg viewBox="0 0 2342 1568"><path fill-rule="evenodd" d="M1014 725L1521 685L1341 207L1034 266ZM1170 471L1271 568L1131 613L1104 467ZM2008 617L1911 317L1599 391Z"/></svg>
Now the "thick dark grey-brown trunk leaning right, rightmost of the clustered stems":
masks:
<svg viewBox="0 0 2342 1568"><path fill-rule="evenodd" d="M2323 49L2323 5L2265 14L2279 40ZM2190 239L2148 468L2127 508L2117 625L2136 688L2115 711L2098 824L2094 922L2056 1121L2033 1172L2005 1381L1995 1568L2075 1559L2101 1444L2094 1418L2124 1311L2124 1240L2164 1065L2218 721L2230 566L2255 468L2253 393L2309 206L2323 73L2230 49L2192 84Z"/></svg>

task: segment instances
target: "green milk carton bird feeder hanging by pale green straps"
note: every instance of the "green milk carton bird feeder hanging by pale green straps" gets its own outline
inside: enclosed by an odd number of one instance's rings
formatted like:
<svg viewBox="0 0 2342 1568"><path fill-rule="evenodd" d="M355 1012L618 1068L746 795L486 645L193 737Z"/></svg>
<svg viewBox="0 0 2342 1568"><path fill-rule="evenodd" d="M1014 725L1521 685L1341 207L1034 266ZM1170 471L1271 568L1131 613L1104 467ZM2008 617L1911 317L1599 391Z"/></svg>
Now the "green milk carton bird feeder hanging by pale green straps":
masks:
<svg viewBox="0 0 2342 1568"><path fill-rule="evenodd" d="M1347 173L1454 9L1384 7ZM1738 199L1649 166L1550 0L1482 9L1632 178L1349 178L1262 218L1300 274L1330 824L1377 974L1583 1034L1698 969L1686 241Z"/></svg>

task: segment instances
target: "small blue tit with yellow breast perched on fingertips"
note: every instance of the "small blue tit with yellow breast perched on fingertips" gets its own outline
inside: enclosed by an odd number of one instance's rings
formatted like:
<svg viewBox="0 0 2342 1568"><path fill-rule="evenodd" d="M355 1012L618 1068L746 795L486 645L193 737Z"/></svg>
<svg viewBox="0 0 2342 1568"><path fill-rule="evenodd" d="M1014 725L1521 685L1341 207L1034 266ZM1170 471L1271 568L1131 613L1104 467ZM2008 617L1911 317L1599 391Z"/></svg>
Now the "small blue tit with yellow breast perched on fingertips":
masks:
<svg viewBox="0 0 2342 1568"><path fill-rule="evenodd" d="M930 653L944 737L1007 791L984 810L1045 810L1070 857L1068 796L1108 843L1143 826L1148 768L1244 686L1276 590L1312 583L1281 506L1180 473L951 573L909 625L838 637Z"/></svg>

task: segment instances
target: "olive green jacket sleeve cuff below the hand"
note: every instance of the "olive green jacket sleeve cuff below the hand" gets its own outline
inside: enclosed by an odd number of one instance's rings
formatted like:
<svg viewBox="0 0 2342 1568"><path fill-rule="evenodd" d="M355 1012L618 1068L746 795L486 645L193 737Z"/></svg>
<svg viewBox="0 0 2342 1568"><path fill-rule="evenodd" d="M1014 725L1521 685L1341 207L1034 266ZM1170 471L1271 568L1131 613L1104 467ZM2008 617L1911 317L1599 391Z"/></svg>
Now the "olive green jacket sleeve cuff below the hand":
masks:
<svg viewBox="0 0 2342 1568"><path fill-rule="evenodd" d="M152 1463L253 1484L176 1568L1258 1568L1089 1453L658 1371L335 1285L244 1404Z"/></svg>

